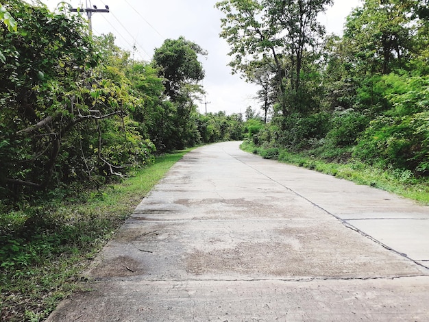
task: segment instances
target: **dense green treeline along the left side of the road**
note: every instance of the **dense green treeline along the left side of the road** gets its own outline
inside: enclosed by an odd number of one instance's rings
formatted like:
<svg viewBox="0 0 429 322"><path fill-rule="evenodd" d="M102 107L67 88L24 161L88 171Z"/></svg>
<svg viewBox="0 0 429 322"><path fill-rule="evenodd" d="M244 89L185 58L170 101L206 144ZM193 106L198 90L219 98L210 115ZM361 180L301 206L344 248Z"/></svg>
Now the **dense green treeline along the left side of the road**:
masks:
<svg viewBox="0 0 429 322"><path fill-rule="evenodd" d="M136 61L66 4L8 0L0 16L0 212L38 193L99 187L156 153L242 138L241 114L199 114L199 45Z"/></svg>

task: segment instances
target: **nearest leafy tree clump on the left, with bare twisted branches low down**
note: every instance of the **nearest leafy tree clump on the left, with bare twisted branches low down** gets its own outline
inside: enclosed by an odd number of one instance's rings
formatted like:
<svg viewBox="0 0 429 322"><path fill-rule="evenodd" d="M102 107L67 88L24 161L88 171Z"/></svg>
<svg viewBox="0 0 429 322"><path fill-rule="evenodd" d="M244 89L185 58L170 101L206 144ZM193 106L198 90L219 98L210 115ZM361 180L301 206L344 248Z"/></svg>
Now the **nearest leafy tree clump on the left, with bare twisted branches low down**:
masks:
<svg viewBox="0 0 429 322"><path fill-rule="evenodd" d="M5 7L19 28L0 24L1 186L29 191L145 162L151 143L127 116L134 102L126 77L100 64L107 51L88 36L86 21L41 3Z"/></svg>

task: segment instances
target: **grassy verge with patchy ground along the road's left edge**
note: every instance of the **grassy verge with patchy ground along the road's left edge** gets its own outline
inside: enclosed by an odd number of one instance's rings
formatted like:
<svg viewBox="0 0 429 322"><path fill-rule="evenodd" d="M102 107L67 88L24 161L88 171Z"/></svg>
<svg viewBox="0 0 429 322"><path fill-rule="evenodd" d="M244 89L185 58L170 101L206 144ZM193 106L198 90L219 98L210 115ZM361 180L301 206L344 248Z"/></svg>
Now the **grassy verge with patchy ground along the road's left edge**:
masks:
<svg viewBox="0 0 429 322"><path fill-rule="evenodd" d="M0 321L42 321L84 287L95 254L188 151L156 158L103 190L0 214Z"/></svg>

